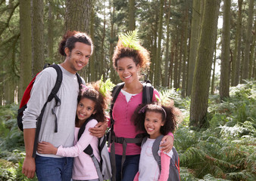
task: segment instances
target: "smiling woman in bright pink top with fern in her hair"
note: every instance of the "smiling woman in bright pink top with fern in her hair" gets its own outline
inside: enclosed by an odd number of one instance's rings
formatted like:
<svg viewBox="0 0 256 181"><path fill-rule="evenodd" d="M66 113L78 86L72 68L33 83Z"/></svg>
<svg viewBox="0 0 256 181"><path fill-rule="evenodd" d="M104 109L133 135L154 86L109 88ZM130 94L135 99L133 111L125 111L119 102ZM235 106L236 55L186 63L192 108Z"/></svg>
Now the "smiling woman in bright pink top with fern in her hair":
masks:
<svg viewBox="0 0 256 181"><path fill-rule="evenodd" d="M131 37L136 36L133 32ZM149 66L149 53L143 48L137 38L121 35L113 55L113 65L119 78L124 82L120 94L114 103L112 116L114 118L115 137L135 138L138 133L131 120L136 107L142 103L142 82L139 81L140 72ZM154 90L152 101L157 101L158 91ZM173 134L169 133L162 140L164 152L170 152L173 146ZM113 150L110 150L113 152ZM140 146L135 143L126 144L126 159L122 164L123 145L114 143L116 178L113 180L130 181L139 170ZM111 159L112 161L112 159ZM113 168L112 168L113 169ZM113 176L114 177L114 176Z"/></svg>

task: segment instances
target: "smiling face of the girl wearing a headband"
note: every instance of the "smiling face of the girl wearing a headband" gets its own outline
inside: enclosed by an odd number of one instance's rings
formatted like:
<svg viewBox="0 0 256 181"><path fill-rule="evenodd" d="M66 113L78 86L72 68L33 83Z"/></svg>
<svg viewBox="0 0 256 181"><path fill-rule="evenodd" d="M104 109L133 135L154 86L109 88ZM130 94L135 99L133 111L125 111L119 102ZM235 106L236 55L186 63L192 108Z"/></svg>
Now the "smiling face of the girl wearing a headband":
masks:
<svg viewBox="0 0 256 181"><path fill-rule="evenodd" d="M160 112L147 111L144 121L145 130L151 139L156 139L161 135L160 128L164 126Z"/></svg>

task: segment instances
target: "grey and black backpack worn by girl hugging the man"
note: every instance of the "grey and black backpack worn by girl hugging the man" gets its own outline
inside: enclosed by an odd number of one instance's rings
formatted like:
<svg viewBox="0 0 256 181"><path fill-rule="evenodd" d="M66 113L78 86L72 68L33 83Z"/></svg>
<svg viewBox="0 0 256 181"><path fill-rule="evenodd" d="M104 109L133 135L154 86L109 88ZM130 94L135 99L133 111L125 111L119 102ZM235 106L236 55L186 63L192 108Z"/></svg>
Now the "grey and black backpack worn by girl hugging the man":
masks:
<svg viewBox="0 0 256 181"><path fill-rule="evenodd" d="M80 130L77 135L77 141L82 136L84 130L86 129L86 124L89 123L89 121L92 120L92 117L87 118L86 121L83 123L83 125L80 127ZM101 156L101 161L98 162L97 158L95 158L95 155L93 154L92 146L89 145L86 147L86 149L83 150L87 155L89 155L92 158L92 161L96 167L97 173L98 173L98 179L100 181L103 181L105 179L111 179L111 161L108 154L108 149L106 146L106 137L101 137L98 139L98 152Z"/></svg>

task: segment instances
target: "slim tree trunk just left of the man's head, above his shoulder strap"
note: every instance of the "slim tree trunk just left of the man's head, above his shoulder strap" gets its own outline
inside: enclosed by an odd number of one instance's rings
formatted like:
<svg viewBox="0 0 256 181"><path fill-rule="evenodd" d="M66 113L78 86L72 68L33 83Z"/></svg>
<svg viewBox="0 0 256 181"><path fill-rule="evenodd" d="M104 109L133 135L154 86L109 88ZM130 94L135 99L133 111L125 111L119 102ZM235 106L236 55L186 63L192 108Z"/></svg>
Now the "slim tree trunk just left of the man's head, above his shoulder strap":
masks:
<svg viewBox="0 0 256 181"><path fill-rule="evenodd" d="M47 53L48 53L48 60L50 63L53 63L53 37L54 37L54 17L52 14L52 1L48 0L48 46L47 46Z"/></svg>

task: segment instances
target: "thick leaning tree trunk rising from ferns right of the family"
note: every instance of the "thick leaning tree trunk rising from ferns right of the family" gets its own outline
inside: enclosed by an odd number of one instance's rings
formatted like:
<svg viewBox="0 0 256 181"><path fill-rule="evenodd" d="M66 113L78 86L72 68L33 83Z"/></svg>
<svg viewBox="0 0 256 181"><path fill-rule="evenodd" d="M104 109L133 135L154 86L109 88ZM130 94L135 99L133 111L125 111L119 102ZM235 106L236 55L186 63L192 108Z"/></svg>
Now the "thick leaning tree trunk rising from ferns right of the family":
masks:
<svg viewBox="0 0 256 181"><path fill-rule="evenodd" d="M220 0L205 0L190 105L189 125L194 127L205 127L207 123L211 63L219 9Z"/></svg>

